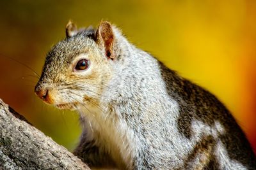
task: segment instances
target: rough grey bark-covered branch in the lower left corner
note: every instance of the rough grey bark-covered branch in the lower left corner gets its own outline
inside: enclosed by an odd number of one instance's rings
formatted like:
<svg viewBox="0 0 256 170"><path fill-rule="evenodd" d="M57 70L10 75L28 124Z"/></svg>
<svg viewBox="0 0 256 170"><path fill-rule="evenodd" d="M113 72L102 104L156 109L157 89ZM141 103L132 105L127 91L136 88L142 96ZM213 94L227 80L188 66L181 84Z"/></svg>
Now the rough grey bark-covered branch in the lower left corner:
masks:
<svg viewBox="0 0 256 170"><path fill-rule="evenodd" d="M0 99L0 169L89 169Z"/></svg>

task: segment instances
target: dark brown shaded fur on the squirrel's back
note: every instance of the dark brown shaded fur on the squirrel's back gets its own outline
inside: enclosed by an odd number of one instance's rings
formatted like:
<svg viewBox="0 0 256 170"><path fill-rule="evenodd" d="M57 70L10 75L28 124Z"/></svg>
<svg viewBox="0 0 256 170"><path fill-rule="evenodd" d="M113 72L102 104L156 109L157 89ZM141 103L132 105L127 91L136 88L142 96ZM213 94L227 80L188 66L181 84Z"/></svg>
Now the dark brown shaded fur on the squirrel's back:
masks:
<svg viewBox="0 0 256 170"><path fill-rule="evenodd" d="M195 145L193 152L189 154L189 159L195 159L198 147L207 148L209 147L207 145L212 144L215 153L211 155L209 169L214 169L213 167L223 169L227 166L221 165L221 162L225 164L225 158L229 158L231 162L241 163L248 169L255 169L255 154L230 111L207 90L181 78L163 64L160 65L168 94L179 104L179 118L177 118L179 132L188 139L193 138L193 134L195 134L193 131L194 121L199 121L200 124L205 124L218 131L217 134L204 136ZM214 139L214 135L216 135L216 139ZM230 163L227 162L227 164ZM238 169L239 166L233 168Z"/></svg>

